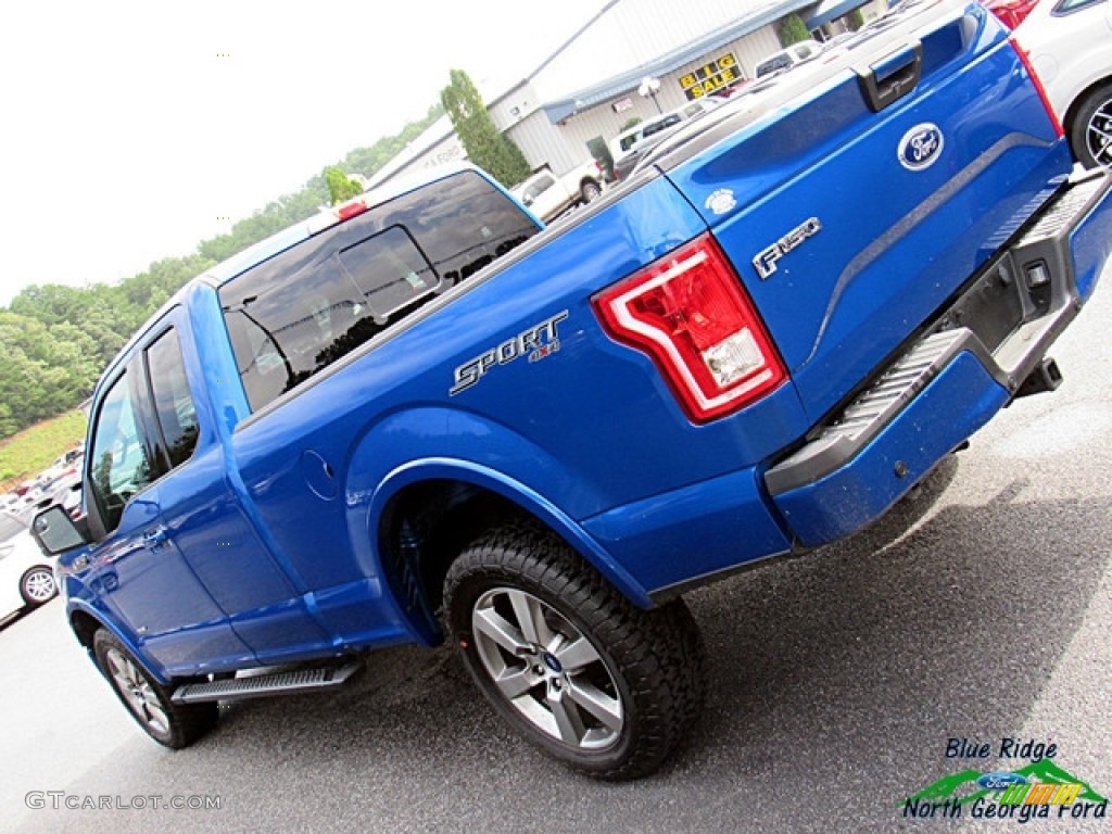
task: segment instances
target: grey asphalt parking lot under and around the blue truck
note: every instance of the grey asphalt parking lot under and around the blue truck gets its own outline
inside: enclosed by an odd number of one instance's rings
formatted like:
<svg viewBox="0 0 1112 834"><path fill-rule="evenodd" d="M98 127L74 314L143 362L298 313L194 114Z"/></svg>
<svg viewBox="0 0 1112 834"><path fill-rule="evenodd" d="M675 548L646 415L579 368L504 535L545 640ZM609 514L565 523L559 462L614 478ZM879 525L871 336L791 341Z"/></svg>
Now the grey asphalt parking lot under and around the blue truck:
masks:
<svg viewBox="0 0 1112 834"><path fill-rule="evenodd" d="M132 724L52 602L0 629L0 830L1013 831L910 820L1004 739L1112 795L1112 275L1020 400L880 525L693 593L698 734L633 784L574 775L479 701L450 652L371 656L346 689L236 704L171 753ZM945 493L932 504L935 493ZM947 758L951 738L986 761ZM181 807L163 807L180 805ZM1023 830L1102 831L1033 821Z"/></svg>

